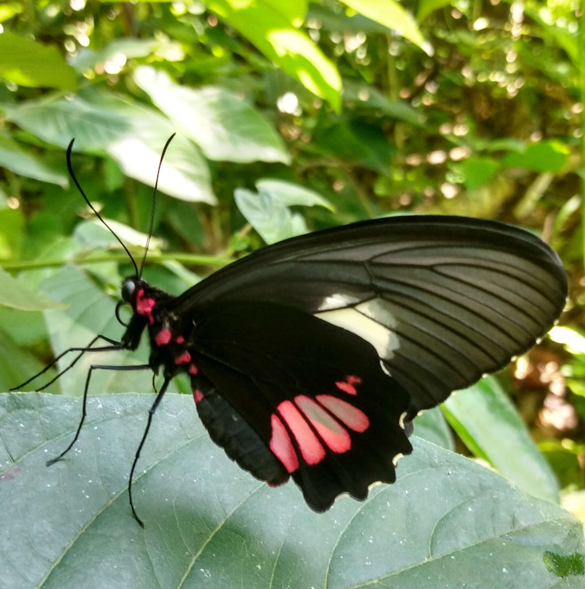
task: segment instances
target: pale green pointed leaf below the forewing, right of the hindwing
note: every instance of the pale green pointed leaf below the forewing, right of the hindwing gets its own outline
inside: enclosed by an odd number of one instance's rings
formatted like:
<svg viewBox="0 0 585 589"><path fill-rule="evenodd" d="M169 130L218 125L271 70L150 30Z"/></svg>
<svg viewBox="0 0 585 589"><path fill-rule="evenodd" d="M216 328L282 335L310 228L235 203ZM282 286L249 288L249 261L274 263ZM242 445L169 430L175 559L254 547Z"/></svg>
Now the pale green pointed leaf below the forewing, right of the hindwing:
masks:
<svg viewBox="0 0 585 589"><path fill-rule="evenodd" d="M472 452L534 497L558 502L553 471L493 376L451 395L443 407L447 421Z"/></svg>

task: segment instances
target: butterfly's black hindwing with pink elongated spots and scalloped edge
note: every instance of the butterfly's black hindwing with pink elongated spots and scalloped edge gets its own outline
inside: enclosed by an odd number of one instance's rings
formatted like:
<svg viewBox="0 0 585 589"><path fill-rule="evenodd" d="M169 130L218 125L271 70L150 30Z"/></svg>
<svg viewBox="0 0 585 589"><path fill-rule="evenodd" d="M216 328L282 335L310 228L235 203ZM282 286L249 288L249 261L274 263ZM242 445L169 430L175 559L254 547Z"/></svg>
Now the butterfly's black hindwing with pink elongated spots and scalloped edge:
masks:
<svg viewBox="0 0 585 589"><path fill-rule="evenodd" d="M213 304L194 323L199 413L230 458L279 484L286 478L270 452L317 511L343 492L363 499L373 482L394 481L393 459L411 452L409 396L368 342L272 303Z"/></svg>

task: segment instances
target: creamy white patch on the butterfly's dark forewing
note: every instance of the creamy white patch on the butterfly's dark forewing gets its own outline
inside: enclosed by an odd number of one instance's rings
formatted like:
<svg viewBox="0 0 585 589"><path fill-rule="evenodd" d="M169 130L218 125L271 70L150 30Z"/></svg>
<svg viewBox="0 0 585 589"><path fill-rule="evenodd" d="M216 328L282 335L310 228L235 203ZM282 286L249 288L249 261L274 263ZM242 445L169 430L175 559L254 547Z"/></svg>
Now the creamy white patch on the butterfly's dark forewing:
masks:
<svg viewBox="0 0 585 589"><path fill-rule="evenodd" d="M398 349L400 346L398 336L385 325L381 325L374 319L366 316L366 314L371 314L371 309L369 308L371 303L374 303L374 301L362 303L355 307L355 309L335 309L315 313L315 317L319 317L319 319L347 329L355 333L355 335L362 337L362 339L365 339L366 342L374 346L376 352L378 352L378 356L381 358L392 358L394 356L393 350ZM389 316L388 310L385 309L385 311L386 315ZM396 320L394 317L392 317L392 320L395 325Z"/></svg>

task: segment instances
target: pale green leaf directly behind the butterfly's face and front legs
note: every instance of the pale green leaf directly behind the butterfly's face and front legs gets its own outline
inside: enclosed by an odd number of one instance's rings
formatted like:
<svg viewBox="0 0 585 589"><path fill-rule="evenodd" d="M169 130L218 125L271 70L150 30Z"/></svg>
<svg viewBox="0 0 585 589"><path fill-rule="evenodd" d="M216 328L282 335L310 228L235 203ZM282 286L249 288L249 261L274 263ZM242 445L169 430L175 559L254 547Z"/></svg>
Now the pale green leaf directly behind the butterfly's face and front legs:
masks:
<svg viewBox="0 0 585 589"><path fill-rule="evenodd" d="M124 328L115 318L115 303L85 274L75 266L67 266L41 284L41 290L69 307L65 311L45 311L45 320L55 355L71 347L85 347L99 333L120 341ZM96 346L104 342L95 343ZM67 368L74 353L59 362L60 370ZM87 371L91 364L131 365L148 361L146 338L135 352L103 352L98 355L85 353L75 367L59 379L62 394L81 396ZM31 375L29 375L31 376ZM152 391L153 375L150 370L120 372L94 370L91 376L90 394L120 391ZM34 383L32 383L33 386ZM173 389L174 390L174 389Z"/></svg>

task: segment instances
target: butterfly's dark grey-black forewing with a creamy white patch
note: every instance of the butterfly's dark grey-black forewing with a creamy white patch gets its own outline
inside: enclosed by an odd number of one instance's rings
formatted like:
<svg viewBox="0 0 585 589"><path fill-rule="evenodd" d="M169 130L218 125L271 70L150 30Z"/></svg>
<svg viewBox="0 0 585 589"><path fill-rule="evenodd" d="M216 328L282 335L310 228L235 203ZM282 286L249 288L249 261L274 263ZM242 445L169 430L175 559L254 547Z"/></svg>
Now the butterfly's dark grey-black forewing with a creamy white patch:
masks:
<svg viewBox="0 0 585 589"><path fill-rule="evenodd" d="M172 303L293 306L374 345L412 397L409 418L503 368L563 310L557 254L528 231L466 217L364 221L265 247Z"/></svg>

